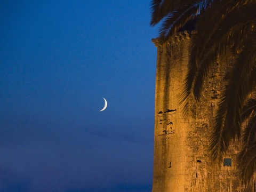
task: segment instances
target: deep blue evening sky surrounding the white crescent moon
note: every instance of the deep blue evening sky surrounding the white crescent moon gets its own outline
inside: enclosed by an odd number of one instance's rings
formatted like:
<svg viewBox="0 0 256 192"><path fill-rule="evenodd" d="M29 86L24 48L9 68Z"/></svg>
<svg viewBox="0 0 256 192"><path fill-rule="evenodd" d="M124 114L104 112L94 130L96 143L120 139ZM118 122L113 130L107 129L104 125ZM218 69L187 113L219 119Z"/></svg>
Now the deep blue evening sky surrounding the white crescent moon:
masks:
<svg viewBox="0 0 256 192"><path fill-rule="evenodd" d="M151 191L149 20L149 0L0 1L1 192Z"/></svg>

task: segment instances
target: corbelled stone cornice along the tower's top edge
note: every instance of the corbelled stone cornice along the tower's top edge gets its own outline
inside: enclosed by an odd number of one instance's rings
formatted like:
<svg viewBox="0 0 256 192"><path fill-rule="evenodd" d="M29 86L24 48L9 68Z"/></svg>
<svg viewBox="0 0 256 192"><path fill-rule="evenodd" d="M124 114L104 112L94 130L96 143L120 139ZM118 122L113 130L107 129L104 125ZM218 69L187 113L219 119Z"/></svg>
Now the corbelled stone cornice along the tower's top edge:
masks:
<svg viewBox="0 0 256 192"><path fill-rule="evenodd" d="M155 44L156 47L159 47L159 46L163 46L165 44L170 45L172 43L177 43L177 42L181 42L186 39L190 39L191 35L193 35L195 33L196 33L196 31L194 31L194 30L185 30L185 31L177 32L174 36L170 37L168 39L168 41L166 41L166 42L161 41L161 38L159 38L159 37L153 38L153 39L151 39L151 41Z"/></svg>

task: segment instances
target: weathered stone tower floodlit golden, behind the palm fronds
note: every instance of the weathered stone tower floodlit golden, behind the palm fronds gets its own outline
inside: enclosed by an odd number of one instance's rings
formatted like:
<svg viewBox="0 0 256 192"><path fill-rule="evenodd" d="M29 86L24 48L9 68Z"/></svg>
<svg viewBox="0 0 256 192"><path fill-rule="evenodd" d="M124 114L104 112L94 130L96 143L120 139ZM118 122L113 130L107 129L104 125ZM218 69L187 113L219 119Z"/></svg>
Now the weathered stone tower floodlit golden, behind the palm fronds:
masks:
<svg viewBox="0 0 256 192"><path fill-rule="evenodd" d="M187 73L191 31L177 33L168 44L157 46L153 192L252 192L238 178L239 142L230 147L221 166L208 151L210 129L217 112L223 75L233 58L219 60L204 83L194 117L182 116L181 86ZM221 84L222 83L222 84Z"/></svg>

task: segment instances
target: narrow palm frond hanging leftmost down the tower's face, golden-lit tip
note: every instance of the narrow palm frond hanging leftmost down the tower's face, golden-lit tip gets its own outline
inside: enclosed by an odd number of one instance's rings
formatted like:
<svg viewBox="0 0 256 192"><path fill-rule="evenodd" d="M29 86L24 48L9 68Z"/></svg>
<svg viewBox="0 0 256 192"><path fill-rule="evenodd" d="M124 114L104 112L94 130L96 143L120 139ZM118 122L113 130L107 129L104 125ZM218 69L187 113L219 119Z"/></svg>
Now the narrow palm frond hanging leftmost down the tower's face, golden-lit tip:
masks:
<svg viewBox="0 0 256 192"><path fill-rule="evenodd" d="M183 111L193 111L192 107L194 104L190 102L195 102L195 98L193 97L193 85L195 81L195 77L197 75L199 58L201 58L201 52L205 49L205 42L210 38L212 31L215 26L209 27L209 23L217 22L219 23L221 18L217 17L217 15L222 15L227 10L228 5L233 5L234 2L232 0L228 0L223 2L214 1L210 7L207 8L204 14L199 15L199 21L196 25L197 33L194 34L191 38L191 54L188 63L188 72L186 75L185 83L182 86L182 94L180 102L183 103ZM217 21L214 18L218 18ZM187 108L189 107L189 108Z"/></svg>

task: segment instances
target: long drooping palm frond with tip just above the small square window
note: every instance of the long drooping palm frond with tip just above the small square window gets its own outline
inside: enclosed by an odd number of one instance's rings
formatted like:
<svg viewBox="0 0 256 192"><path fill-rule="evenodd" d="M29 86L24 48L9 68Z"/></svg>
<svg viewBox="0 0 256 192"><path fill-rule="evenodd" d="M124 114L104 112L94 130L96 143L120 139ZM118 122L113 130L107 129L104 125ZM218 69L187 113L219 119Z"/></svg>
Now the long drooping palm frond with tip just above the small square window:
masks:
<svg viewBox="0 0 256 192"><path fill-rule="evenodd" d="M255 43L256 39L247 39L246 46L243 47L243 51L234 64L231 79L221 98L210 143L214 159L222 157L231 139L235 139L235 137L239 139L241 136L242 119L240 114L249 92L249 79L255 65Z"/></svg>

